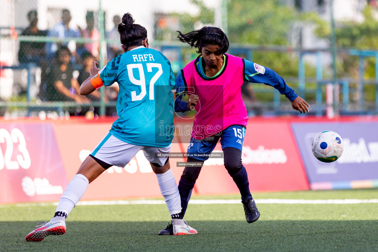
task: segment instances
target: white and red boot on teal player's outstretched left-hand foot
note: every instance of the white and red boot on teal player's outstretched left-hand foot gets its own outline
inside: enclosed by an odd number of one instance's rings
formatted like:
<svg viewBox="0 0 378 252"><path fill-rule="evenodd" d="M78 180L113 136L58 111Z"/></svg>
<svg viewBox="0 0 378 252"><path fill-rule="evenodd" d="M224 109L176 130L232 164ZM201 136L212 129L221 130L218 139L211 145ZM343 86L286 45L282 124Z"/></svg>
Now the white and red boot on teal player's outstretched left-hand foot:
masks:
<svg viewBox="0 0 378 252"><path fill-rule="evenodd" d="M26 241L42 241L48 235L63 235L66 232L65 221L39 221L37 229L26 235Z"/></svg>

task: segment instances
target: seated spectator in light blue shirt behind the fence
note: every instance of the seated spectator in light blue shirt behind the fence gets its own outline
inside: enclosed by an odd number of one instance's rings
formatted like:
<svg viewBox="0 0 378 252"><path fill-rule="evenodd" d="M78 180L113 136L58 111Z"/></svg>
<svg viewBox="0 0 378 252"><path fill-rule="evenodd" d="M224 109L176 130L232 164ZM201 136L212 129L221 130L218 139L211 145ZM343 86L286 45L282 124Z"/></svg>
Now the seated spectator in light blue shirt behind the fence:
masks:
<svg viewBox="0 0 378 252"><path fill-rule="evenodd" d="M60 39L68 38L68 37L80 37L78 31L75 31L69 27L71 21L71 14L68 9L64 9L62 11L62 22L58 23L48 32L48 37L58 37ZM46 55L51 59L54 57L59 46L67 46L67 42L62 43L55 43L55 42L48 42L46 43ZM76 47L76 46L75 46ZM76 53L76 48L71 48L71 53L75 56L76 60L79 59L79 56Z"/></svg>

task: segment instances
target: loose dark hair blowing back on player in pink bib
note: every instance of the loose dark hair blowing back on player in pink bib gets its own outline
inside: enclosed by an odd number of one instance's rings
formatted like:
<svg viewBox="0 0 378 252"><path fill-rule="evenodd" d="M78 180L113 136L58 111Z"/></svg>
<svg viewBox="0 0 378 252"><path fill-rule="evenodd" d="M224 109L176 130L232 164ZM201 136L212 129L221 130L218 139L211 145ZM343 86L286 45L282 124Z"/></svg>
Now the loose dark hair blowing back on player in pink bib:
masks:
<svg viewBox="0 0 378 252"><path fill-rule="evenodd" d="M177 36L181 42L188 43L190 46L197 48L197 53L201 53L205 45L218 45L220 53L226 53L229 48L229 42L226 34L222 29L214 26L204 26L199 30L183 34L177 31Z"/></svg>

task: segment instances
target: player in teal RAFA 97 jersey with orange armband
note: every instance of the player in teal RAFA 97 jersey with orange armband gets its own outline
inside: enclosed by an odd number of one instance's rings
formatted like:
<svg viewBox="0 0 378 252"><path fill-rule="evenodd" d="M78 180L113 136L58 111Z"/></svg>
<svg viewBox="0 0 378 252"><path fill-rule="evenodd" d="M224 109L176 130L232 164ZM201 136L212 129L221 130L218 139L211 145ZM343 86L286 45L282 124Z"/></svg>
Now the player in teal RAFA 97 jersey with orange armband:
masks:
<svg viewBox="0 0 378 252"><path fill-rule="evenodd" d="M143 150L156 173L172 217L174 235L197 233L181 218L180 194L169 159L155 158L155 153L168 154L171 147L173 132L169 132L168 137L161 137L159 130L161 125L174 125L174 74L167 58L148 48L146 28L133 22L132 16L127 13L118 25L125 53L108 62L101 70L93 62L91 76L80 87L80 93L87 95L102 85L110 86L118 82L119 118L68 184L54 217L49 222L41 222L39 228L25 237L27 241L42 241L48 235L64 234L65 219L84 195L88 184L113 165L125 167L140 150Z"/></svg>

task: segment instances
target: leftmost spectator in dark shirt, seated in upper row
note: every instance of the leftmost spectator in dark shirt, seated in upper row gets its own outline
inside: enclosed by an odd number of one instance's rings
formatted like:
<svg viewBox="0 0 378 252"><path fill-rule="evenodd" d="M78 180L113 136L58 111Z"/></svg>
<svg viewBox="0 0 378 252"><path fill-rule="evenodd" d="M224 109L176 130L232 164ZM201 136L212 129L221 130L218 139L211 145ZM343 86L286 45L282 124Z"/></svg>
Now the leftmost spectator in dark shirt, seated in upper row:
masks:
<svg viewBox="0 0 378 252"><path fill-rule="evenodd" d="M28 20L30 25L22 31L22 36L46 36L46 31L41 31L37 27L38 14L36 10L28 12ZM45 42L20 42L19 50L19 62L28 63L35 62L40 63L42 57L45 56Z"/></svg>

